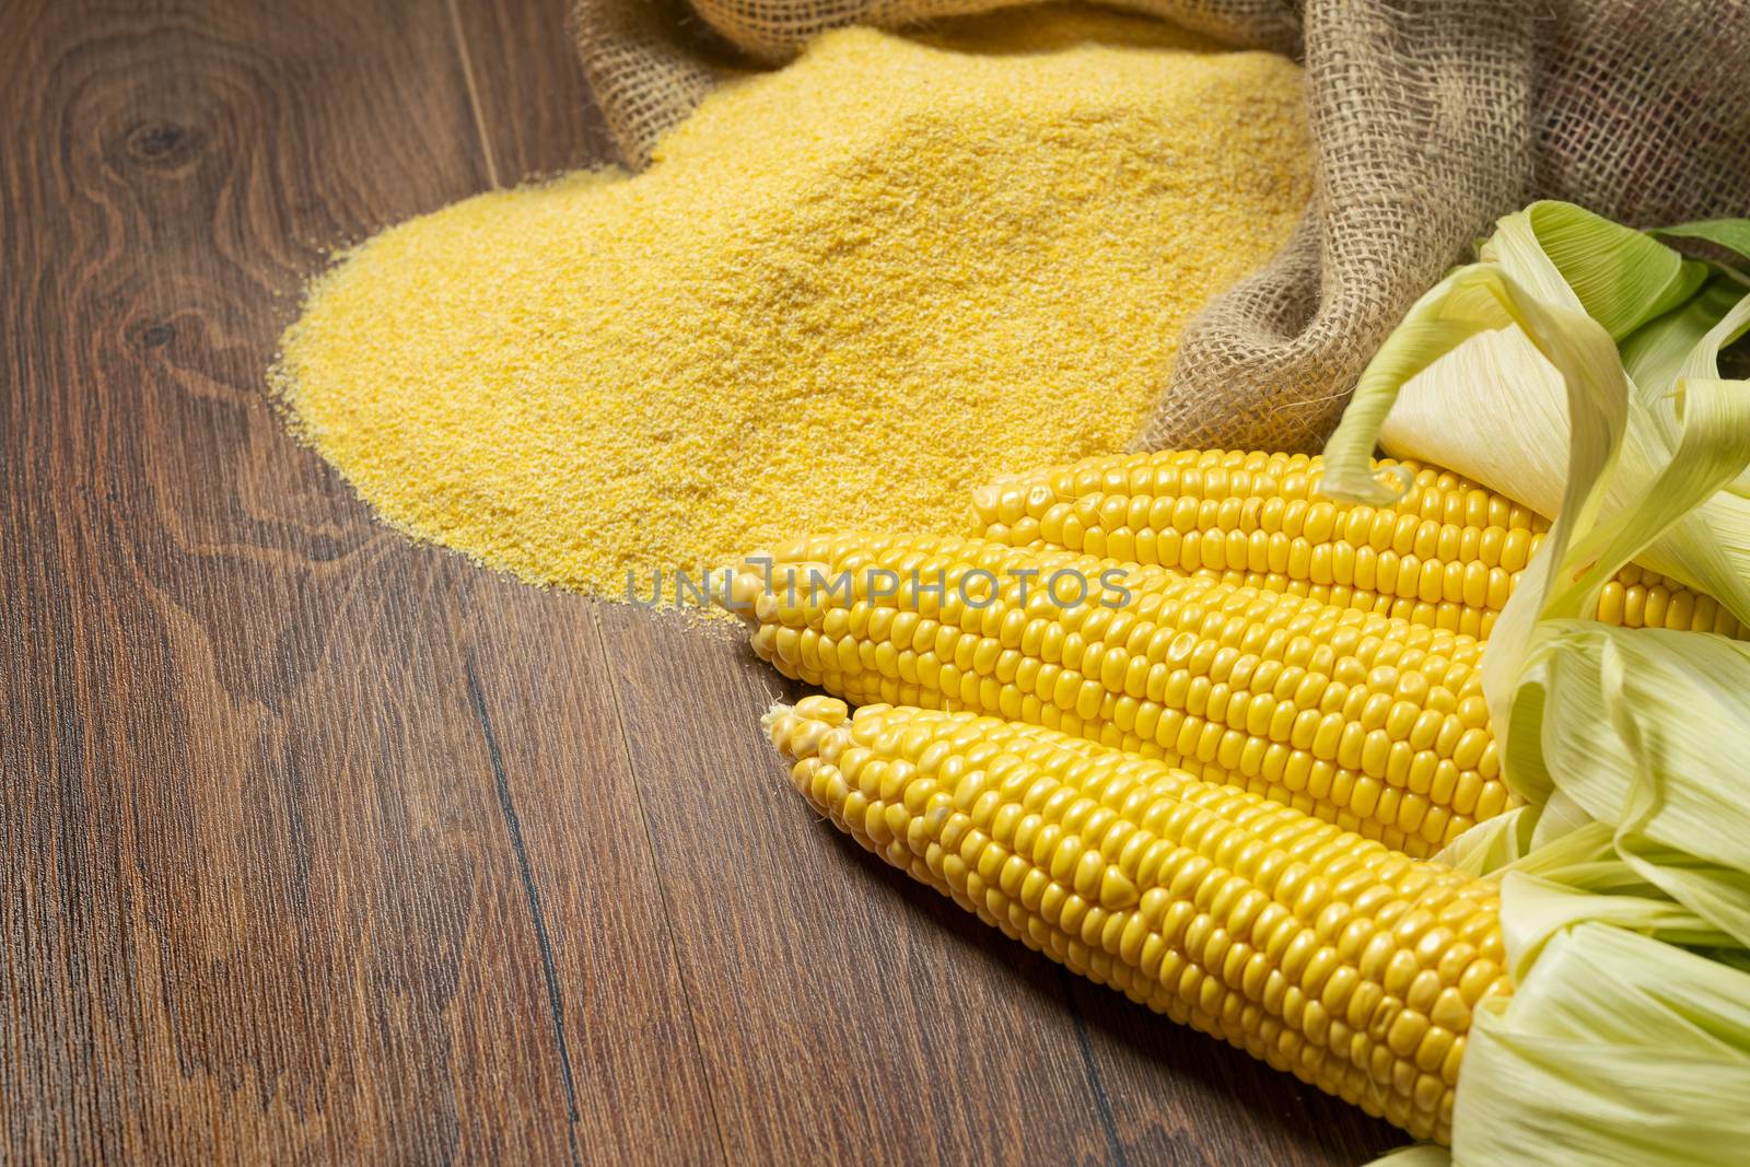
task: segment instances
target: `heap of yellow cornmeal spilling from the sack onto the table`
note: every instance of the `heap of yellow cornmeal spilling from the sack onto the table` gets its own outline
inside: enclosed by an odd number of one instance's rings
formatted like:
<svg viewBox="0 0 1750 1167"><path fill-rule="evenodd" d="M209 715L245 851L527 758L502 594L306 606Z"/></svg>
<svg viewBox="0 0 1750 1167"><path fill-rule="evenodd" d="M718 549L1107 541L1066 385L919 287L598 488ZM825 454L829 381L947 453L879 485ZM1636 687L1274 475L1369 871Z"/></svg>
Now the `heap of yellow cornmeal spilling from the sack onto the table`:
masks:
<svg viewBox="0 0 1750 1167"><path fill-rule="evenodd" d="M385 520L536 583L648 597L786 534L957 528L992 474L1129 441L1306 205L1298 93L1116 14L835 31L642 175L355 248L275 383Z"/></svg>

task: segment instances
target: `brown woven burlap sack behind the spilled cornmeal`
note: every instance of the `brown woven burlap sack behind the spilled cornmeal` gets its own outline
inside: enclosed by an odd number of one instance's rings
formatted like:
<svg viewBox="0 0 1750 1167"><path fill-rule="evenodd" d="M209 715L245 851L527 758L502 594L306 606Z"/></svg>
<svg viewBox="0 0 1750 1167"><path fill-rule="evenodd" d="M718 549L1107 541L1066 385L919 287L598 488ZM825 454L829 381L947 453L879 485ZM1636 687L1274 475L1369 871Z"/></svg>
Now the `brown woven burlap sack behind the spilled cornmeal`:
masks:
<svg viewBox="0 0 1750 1167"><path fill-rule="evenodd" d="M684 0L676 0L684 3ZM840 24L1026 0L578 0L626 161L732 61ZM1183 338L1139 446L1314 450L1409 304L1498 215L1561 198L1638 226L1750 213L1745 0L1129 0L1298 56L1318 185L1293 240Z"/></svg>

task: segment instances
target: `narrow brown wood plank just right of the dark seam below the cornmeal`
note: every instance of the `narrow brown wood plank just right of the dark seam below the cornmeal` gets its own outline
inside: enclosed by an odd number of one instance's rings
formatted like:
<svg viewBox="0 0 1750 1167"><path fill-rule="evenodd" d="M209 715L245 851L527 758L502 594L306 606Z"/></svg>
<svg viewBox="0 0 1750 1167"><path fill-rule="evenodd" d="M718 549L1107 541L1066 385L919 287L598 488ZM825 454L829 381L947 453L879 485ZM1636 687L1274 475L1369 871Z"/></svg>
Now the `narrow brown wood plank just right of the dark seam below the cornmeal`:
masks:
<svg viewBox="0 0 1750 1167"><path fill-rule="evenodd" d="M639 805L646 775L626 763L593 605L506 577L478 590L469 677L506 817L520 821L522 877L541 901L579 1157L709 1162L721 1150L719 1071L698 1057Z"/></svg>

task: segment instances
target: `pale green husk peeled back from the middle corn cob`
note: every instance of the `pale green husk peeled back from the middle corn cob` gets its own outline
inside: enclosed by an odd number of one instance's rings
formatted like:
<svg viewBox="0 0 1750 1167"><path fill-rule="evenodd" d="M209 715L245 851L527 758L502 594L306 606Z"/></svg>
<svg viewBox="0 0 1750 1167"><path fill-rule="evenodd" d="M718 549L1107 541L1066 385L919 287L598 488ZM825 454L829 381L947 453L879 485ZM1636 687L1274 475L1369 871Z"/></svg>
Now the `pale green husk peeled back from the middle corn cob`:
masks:
<svg viewBox="0 0 1750 1167"><path fill-rule="evenodd" d="M1592 322L1575 329L1580 359L1544 346L1564 373L1570 472L1549 537L1496 623L1484 693L1516 793L1554 805L1566 828L1580 815L1608 824L1617 859L1750 948L1750 777L1734 765L1750 749L1738 707L1750 646L1578 619L1624 563L1750 465L1750 394L1678 381L1670 460L1633 506L1600 516L1628 408L1628 381L1600 336ZM1545 828L1530 842L1550 838Z"/></svg>

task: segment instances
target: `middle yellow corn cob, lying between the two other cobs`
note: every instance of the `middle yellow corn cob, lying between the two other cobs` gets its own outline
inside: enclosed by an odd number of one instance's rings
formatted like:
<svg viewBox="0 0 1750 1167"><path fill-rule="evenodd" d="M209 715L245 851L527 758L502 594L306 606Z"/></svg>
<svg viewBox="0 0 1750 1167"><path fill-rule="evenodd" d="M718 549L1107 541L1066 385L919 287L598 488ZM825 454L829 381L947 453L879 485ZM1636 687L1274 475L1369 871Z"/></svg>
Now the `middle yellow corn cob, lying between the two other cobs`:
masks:
<svg viewBox="0 0 1750 1167"><path fill-rule="evenodd" d="M1062 730L1412 856L1517 801L1465 635L1162 569L1122 576L1122 602L1090 590L1062 605L1040 583L1022 595L1020 572L1099 581L1115 565L970 539L816 537L775 562L732 588L754 653L858 705ZM884 570L905 581L896 595L872 586Z"/></svg>

